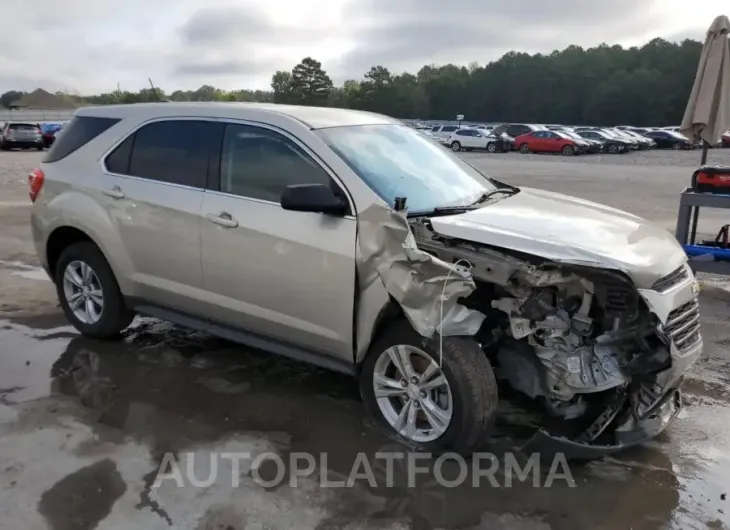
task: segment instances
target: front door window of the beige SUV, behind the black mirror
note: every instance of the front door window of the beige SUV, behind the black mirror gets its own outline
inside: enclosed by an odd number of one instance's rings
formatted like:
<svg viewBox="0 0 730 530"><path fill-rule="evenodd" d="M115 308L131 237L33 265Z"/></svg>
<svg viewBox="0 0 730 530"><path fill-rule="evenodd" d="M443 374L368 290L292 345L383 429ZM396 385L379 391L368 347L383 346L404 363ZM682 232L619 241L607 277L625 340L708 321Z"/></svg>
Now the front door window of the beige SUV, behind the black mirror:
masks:
<svg viewBox="0 0 730 530"><path fill-rule="evenodd" d="M324 184L339 191L322 166L293 141L251 125L226 125L220 173L220 191L275 203L292 184Z"/></svg>

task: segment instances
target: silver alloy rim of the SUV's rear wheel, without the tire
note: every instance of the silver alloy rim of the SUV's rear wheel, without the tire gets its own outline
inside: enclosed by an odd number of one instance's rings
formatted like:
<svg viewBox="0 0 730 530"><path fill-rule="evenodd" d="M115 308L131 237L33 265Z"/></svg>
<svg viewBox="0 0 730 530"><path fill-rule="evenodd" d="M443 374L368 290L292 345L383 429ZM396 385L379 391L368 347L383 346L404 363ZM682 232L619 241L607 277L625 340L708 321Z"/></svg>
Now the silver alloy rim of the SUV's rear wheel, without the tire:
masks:
<svg viewBox="0 0 730 530"><path fill-rule="evenodd" d="M66 303L79 321L95 324L104 310L104 293L94 270L81 260L71 261L63 273Z"/></svg>

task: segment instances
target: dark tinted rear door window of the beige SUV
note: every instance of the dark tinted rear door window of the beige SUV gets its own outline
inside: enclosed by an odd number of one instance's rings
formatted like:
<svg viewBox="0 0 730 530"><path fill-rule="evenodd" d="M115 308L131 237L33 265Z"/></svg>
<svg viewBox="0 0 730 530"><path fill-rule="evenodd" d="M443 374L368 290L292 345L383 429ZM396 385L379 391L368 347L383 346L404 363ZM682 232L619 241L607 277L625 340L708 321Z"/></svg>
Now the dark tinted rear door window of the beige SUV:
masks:
<svg viewBox="0 0 730 530"><path fill-rule="evenodd" d="M106 167L112 173L204 188L219 131L221 124L208 121L151 123L119 144Z"/></svg>

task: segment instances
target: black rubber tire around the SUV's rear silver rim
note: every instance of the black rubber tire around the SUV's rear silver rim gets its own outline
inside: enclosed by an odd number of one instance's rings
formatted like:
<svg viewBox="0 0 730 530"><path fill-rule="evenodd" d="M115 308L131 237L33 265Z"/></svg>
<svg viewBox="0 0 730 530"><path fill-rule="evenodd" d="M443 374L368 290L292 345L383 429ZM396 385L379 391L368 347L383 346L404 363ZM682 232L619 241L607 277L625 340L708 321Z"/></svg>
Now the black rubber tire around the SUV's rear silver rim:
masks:
<svg viewBox="0 0 730 530"><path fill-rule="evenodd" d="M90 267L93 278L87 285L88 293L96 291L101 293L101 304L94 304L95 313L86 310L91 320L82 320L69 302L69 293L79 294L81 291L78 284L66 279L64 276L72 265L75 271L83 270L79 265L85 264ZM134 313L124 305L124 299L119 291L119 285L114 273L109 267L106 258L99 248L90 242L74 243L67 247L58 259L55 270L56 293L61 302L61 308L68 321L84 336L94 339L112 339L119 336L119 333L131 324ZM89 298L97 300L96 297ZM88 306L84 305L84 308ZM77 310L81 310L80 308ZM94 318L95 317L95 318Z"/></svg>

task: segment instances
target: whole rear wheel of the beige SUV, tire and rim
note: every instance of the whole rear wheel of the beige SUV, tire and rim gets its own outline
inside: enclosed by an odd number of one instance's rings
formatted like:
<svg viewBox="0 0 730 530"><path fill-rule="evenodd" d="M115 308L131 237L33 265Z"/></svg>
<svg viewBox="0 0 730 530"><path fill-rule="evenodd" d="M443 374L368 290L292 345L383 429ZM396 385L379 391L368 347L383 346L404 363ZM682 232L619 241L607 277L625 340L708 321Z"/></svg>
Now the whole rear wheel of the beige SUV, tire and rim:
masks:
<svg viewBox="0 0 730 530"><path fill-rule="evenodd" d="M104 255L89 242L75 243L58 259L56 292L68 321L81 334L96 339L119 335L134 318Z"/></svg>

